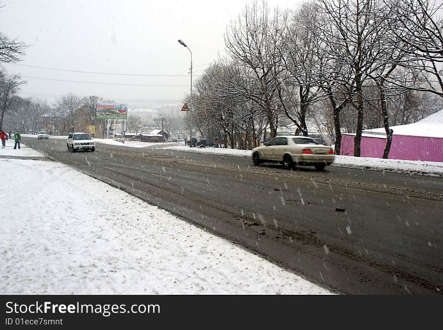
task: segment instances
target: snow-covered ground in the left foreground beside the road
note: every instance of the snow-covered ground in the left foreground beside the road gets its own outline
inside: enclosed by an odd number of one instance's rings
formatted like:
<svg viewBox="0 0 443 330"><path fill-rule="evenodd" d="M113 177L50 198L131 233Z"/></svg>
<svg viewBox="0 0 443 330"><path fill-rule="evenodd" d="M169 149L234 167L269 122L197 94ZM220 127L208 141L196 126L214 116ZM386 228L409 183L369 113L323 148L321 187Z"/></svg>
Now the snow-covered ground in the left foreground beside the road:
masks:
<svg viewBox="0 0 443 330"><path fill-rule="evenodd" d="M27 147L0 152L0 294L330 294L61 163L12 158Z"/></svg>

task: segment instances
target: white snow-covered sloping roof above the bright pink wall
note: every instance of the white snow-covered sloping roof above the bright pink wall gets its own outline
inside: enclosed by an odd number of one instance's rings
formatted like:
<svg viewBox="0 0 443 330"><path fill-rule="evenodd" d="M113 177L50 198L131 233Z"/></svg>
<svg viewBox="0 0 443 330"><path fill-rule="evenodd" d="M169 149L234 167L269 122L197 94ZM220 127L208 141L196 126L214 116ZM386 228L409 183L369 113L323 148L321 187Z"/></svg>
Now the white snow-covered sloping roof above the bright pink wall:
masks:
<svg viewBox="0 0 443 330"><path fill-rule="evenodd" d="M413 124L391 126L394 135L443 137L443 109ZM386 136L384 128L366 129L364 133Z"/></svg>

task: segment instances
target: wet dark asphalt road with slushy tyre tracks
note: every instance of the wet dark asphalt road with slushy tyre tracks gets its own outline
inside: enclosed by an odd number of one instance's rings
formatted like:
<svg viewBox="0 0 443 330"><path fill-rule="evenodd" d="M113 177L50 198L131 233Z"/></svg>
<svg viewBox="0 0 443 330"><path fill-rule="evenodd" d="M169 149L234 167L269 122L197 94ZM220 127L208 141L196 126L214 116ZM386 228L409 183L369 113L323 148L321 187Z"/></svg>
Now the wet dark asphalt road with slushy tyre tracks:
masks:
<svg viewBox="0 0 443 330"><path fill-rule="evenodd" d="M443 179L288 171L151 147L98 144L72 153L65 140L23 143L334 292L443 292Z"/></svg>

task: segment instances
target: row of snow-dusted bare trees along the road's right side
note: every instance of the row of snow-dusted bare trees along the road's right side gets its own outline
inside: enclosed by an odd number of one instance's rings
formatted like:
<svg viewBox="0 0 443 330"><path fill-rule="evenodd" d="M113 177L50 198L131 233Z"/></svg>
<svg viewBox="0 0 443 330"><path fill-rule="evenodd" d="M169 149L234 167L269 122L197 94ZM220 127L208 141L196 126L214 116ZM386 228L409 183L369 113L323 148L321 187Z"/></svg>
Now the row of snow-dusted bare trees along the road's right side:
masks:
<svg viewBox="0 0 443 330"><path fill-rule="evenodd" d="M289 131L408 124L442 107L443 23L426 0L320 0L293 10L253 2L226 29L226 56L195 83L192 125L232 148Z"/></svg>

